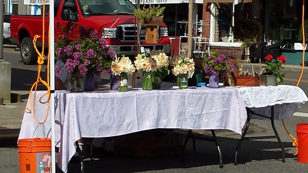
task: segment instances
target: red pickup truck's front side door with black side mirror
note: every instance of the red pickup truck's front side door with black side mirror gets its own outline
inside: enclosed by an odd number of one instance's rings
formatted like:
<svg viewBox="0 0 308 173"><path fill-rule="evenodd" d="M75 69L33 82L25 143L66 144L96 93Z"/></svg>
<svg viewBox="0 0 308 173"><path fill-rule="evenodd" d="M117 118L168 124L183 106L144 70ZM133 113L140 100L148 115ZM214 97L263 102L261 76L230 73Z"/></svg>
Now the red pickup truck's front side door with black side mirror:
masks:
<svg viewBox="0 0 308 173"><path fill-rule="evenodd" d="M57 17L55 21L55 38L57 39L59 35L63 34L62 28L70 24L78 24L78 9L75 0L65 0L62 4L60 16ZM68 37L69 39L77 38L79 30L74 30Z"/></svg>

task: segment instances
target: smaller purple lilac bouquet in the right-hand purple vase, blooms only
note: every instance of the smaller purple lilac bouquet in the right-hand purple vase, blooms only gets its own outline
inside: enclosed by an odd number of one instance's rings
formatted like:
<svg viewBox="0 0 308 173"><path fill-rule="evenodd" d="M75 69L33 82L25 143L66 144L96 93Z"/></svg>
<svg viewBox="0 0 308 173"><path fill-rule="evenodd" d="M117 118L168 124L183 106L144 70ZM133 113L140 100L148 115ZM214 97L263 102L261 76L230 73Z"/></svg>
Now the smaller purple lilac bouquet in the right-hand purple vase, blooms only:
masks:
<svg viewBox="0 0 308 173"><path fill-rule="evenodd" d="M203 66L206 74L227 75L234 71L234 66L230 64L231 59L224 54L217 56L216 52L210 52L205 56Z"/></svg>

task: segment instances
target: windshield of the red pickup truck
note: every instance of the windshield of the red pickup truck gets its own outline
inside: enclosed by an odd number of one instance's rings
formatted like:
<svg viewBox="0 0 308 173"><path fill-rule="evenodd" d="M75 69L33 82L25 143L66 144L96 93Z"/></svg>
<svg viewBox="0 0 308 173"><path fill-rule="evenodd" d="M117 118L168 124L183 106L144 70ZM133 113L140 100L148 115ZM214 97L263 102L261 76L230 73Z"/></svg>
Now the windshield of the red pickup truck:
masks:
<svg viewBox="0 0 308 173"><path fill-rule="evenodd" d="M134 14L135 7L129 0L78 0L83 15Z"/></svg>

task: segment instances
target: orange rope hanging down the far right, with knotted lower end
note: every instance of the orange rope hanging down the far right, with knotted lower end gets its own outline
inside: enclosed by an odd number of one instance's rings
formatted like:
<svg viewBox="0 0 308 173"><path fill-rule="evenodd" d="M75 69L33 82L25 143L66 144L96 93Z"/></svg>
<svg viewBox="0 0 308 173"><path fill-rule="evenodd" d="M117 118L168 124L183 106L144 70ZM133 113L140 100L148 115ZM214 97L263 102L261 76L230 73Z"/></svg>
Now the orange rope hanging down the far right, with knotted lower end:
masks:
<svg viewBox="0 0 308 173"><path fill-rule="evenodd" d="M302 70L301 70L301 74L299 75L299 78L298 78L298 81L297 81L297 83L296 83L296 86L298 86L299 83L300 83L301 80L302 80L302 76L303 76L303 73L304 73L304 66L305 66L305 47L306 47L306 45L305 45L305 20L304 20L305 14L304 14L304 12L305 12L305 0L303 0L303 10L302 10L302 33L303 33ZM296 152L294 153L294 155L297 155L297 153L298 153L298 143L299 143L300 141L298 141L297 138L295 138L293 135L291 135L291 134L289 133L289 131L288 131L287 128L286 128L285 122L284 122L283 120L282 120L282 124L283 124L283 127L285 128L286 132L288 133L288 135L289 135L289 136L292 138L292 140L293 140L292 145L293 145L293 147L296 147Z"/></svg>

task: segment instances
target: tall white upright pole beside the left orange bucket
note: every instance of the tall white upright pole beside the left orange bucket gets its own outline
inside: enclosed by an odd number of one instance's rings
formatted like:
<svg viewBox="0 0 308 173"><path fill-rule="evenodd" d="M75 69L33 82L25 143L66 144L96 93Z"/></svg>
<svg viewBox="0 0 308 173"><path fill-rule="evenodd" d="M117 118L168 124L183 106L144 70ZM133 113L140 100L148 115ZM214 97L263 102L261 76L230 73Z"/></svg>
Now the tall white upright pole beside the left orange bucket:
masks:
<svg viewBox="0 0 308 173"><path fill-rule="evenodd" d="M54 1L49 2L49 29L50 29L50 115L51 115L51 172L56 172L56 153L55 153L55 18ZM44 14L43 14L44 15Z"/></svg>

